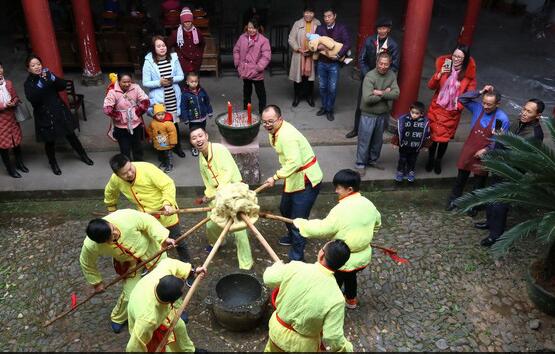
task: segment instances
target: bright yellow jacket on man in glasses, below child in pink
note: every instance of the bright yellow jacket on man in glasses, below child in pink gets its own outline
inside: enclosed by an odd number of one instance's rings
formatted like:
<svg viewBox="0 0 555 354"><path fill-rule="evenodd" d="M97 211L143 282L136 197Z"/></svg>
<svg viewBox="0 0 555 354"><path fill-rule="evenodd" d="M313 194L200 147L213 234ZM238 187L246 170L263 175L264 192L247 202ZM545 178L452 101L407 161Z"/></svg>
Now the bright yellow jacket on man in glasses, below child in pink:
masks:
<svg viewBox="0 0 555 354"><path fill-rule="evenodd" d="M149 162L132 162L132 164L137 171L132 183L113 173L106 184L104 204L108 207L108 211L117 209L120 193L123 193L141 211L161 210L164 205L177 208L175 183L167 174ZM166 227L179 222L177 214L155 217L159 218L160 223Z"/></svg>

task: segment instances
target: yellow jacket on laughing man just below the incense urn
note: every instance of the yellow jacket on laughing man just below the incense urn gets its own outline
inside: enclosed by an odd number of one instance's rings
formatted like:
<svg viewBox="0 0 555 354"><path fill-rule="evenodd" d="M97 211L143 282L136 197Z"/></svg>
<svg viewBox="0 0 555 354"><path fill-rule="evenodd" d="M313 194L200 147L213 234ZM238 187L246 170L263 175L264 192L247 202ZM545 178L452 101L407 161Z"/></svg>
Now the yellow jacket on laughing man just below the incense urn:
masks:
<svg viewBox="0 0 555 354"><path fill-rule="evenodd" d="M233 156L222 144L208 143L208 156L199 154L198 165L208 198L214 197L221 186L243 179Z"/></svg>

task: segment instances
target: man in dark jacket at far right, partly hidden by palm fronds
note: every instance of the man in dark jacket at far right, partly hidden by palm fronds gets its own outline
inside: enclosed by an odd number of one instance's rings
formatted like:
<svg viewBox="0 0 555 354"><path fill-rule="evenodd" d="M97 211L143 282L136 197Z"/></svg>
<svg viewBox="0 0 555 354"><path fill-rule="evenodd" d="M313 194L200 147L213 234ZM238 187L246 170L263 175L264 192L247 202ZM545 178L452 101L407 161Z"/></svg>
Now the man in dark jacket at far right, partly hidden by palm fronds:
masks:
<svg viewBox="0 0 555 354"><path fill-rule="evenodd" d="M512 129L512 133L523 137L531 142L541 143L543 141L543 130L540 124L540 116L545 109L545 104L537 99L531 98L526 102L522 111L518 124ZM499 144L495 144L495 148L502 148ZM493 183L498 183L501 178L493 176ZM484 238L480 244L485 247L493 245L499 237L505 232L507 224L507 213L509 205L505 203L489 204L486 208L486 221L474 224L478 229L489 229L488 237Z"/></svg>

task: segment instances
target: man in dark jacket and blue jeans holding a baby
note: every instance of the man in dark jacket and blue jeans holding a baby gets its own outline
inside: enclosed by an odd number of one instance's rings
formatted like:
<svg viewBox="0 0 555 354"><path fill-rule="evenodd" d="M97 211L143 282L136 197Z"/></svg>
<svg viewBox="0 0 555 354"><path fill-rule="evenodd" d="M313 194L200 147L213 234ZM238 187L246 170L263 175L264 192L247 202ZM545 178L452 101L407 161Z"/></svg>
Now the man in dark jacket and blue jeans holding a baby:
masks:
<svg viewBox="0 0 555 354"><path fill-rule="evenodd" d="M335 119L333 107L337 95L337 81L339 81L339 58L343 57L351 49L351 38L347 27L344 24L336 23L337 14L335 10L329 8L324 11L324 25L316 28L316 34L328 36L334 41L342 43L343 47L335 58L328 58L320 55L318 59L318 81L320 85L320 99L322 108L316 113L317 116L326 115L329 121ZM323 50L322 44L318 45L318 50Z"/></svg>

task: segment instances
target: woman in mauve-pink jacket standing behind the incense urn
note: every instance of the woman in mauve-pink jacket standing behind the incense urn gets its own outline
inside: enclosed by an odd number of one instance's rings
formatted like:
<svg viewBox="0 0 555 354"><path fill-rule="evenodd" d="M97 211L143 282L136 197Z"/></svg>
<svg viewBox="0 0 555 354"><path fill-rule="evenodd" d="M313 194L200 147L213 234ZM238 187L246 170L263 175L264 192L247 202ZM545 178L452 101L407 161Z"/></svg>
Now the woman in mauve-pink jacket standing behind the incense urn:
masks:
<svg viewBox="0 0 555 354"><path fill-rule="evenodd" d="M247 32L243 33L233 48L233 63L239 77L243 79L243 109L251 103L252 85L258 97L258 112L266 107L266 89L264 88L264 70L272 58L272 50L268 38L258 30L260 25L256 19L249 21Z"/></svg>

